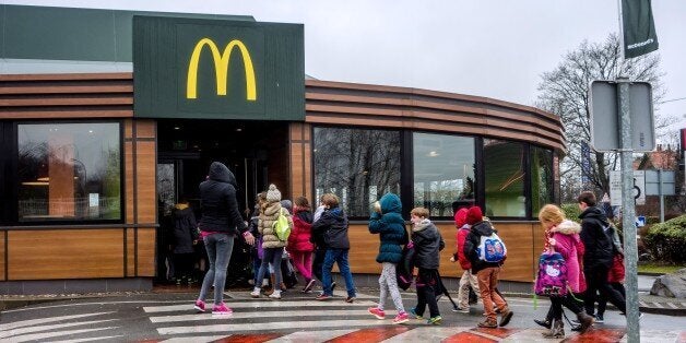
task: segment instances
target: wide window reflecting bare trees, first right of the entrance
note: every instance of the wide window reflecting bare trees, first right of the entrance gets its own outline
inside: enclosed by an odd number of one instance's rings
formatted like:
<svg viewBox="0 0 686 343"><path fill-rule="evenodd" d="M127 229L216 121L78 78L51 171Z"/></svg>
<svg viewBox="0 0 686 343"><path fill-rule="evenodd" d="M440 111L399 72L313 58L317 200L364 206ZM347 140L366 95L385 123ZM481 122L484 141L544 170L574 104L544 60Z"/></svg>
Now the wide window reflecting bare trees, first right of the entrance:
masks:
<svg viewBox="0 0 686 343"><path fill-rule="evenodd" d="M348 216L367 217L383 193L400 194L399 131L315 128L314 154L315 196L335 193Z"/></svg>

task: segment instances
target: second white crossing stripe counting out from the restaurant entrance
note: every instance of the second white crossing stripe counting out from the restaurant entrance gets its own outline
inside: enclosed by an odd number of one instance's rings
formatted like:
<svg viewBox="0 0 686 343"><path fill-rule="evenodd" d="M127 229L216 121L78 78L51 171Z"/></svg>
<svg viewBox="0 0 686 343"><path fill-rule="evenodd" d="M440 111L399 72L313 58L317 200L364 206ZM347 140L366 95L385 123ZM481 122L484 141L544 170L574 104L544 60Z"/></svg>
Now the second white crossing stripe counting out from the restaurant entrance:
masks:
<svg viewBox="0 0 686 343"><path fill-rule="evenodd" d="M356 310L356 309L336 309L336 310L326 310L321 309L316 310L289 310L284 309L280 311L259 311L259 312L233 312L229 316L208 316L208 314L199 314L199 315L179 315L179 316L161 316L161 317L150 317L150 321L152 322L185 322L185 321L198 321L198 320L225 320L227 318L230 319L245 319L245 318L284 318L286 316L288 319L299 318L299 317L321 317L322 315L327 317L335 317L335 316L365 316L369 315L367 310ZM394 310L386 311L387 318L393 319L395 316ZM381 321L380 321L381 322Z"/></svg>

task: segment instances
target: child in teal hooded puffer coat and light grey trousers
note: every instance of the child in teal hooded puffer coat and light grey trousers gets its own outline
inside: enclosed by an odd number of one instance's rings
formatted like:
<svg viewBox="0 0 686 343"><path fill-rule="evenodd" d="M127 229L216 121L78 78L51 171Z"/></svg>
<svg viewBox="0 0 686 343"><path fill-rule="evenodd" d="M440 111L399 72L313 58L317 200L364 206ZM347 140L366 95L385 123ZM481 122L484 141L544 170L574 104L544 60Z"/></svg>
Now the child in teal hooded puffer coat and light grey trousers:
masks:
<svg viewBox="0 0 686 343"><path fill-rule="evenodd" d="M387 193L381 197L380 201L375 202L374 212L371 212L369 217L369 232L379 234L379 239L381 240L379 255L377 256L377 262L381 263L379 305L370 307L368 309L369 314L377 319L385 319L383 307L386 297L390 293L393 305L395 305L398 310L393 323L407 322L410 318L403 307L403 300L398 289L398 281L395 280L395 265L402 259L402 246L406 245L409 240L405 221L402 217L402 204L397 194Z"/></svg>

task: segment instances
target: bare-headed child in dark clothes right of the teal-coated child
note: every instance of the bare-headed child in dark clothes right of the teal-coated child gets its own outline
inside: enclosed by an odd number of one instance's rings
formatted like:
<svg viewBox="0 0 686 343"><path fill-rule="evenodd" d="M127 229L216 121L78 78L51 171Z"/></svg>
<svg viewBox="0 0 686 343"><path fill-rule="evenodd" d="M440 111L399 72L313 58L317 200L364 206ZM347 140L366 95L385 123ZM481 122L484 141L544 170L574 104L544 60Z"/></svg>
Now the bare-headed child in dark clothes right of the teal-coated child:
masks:
<svg viewBox="0 0 686 343"><path fill-rule="evenodd" d="M412 221L412 244L414 245L414 264L418 268L415 285L417 288L417 306L410 312L417 319L423 319L424 309L428 305L429 318L427 323L440 324L440 311L436 300L436 287L440 287L438 280L439 251L446 247L436 225L428 218L429 212L425 208L414 208L410 212Z"/></svg>

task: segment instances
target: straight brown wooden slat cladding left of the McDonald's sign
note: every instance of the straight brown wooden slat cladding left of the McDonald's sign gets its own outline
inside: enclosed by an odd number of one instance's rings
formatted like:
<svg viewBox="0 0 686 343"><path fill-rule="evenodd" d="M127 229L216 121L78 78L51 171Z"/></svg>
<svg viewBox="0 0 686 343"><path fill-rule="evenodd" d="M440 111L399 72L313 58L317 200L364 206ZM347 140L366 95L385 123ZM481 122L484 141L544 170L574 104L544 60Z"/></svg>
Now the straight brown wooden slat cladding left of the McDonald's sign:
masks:
<svg viewBox="0 0 686 343"><path fill-rule="evenodd" d="M131 118L131 73L0 75L3 119Z"/></svg>

